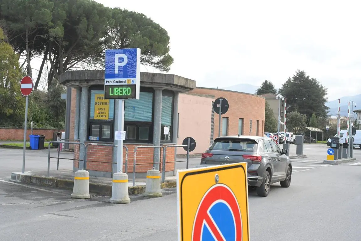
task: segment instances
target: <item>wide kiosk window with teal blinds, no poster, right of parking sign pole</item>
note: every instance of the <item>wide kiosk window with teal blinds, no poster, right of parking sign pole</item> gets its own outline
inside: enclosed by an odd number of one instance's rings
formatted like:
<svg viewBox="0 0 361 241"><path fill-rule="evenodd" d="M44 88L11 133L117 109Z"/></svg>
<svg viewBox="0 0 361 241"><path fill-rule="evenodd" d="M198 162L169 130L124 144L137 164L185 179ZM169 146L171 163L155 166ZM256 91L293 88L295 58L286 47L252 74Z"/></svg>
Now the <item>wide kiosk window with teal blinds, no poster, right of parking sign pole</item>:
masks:
<svg viewBox="0 0 361 241"><path fill-rule="evenodd" d="M153 92L142 90L139 100L129 99L124 103L124 130L126 142L152 142L153 137Z"/></svg>

